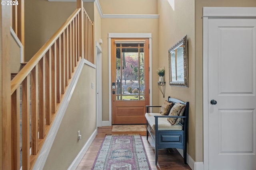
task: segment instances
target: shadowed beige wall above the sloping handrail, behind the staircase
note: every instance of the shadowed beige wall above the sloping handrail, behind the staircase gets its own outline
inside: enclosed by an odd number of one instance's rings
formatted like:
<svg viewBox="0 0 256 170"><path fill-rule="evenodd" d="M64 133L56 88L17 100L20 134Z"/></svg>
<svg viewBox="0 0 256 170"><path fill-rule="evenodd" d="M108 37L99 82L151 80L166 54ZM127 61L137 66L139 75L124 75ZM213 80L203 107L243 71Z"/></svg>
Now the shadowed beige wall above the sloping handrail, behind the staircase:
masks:
<svg viewBox="0 0 256 170"><path fill-rule="evenodd" d="M76 9L76 2L25 2L25 61L50 39Z"/></svg>

